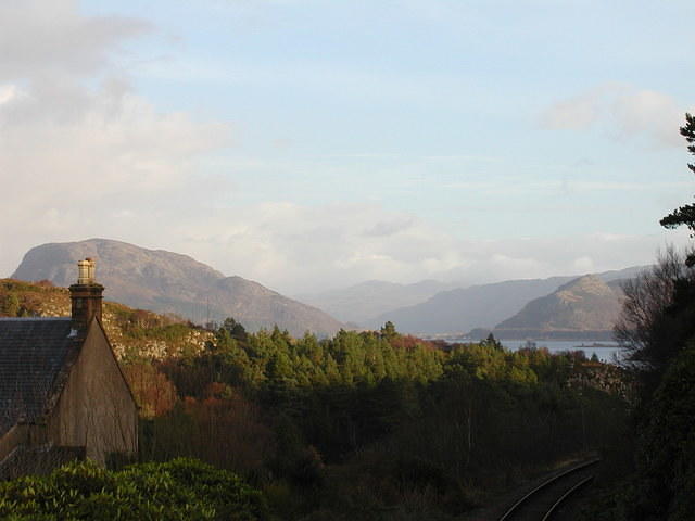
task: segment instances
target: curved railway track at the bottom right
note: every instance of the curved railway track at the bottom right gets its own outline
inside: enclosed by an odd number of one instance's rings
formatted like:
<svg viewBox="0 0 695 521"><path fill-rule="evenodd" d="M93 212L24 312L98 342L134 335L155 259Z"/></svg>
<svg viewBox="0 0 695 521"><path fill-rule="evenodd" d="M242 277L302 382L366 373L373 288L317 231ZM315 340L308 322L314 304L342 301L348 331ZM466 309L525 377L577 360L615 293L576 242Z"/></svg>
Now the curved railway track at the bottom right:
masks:
<svg viewBox="0 0 695 521"><path fill-rule="evenodd" d="M517 500L498 521L551 521L563 505L594 479L599 458L585 461L544 481Z"/></svg>

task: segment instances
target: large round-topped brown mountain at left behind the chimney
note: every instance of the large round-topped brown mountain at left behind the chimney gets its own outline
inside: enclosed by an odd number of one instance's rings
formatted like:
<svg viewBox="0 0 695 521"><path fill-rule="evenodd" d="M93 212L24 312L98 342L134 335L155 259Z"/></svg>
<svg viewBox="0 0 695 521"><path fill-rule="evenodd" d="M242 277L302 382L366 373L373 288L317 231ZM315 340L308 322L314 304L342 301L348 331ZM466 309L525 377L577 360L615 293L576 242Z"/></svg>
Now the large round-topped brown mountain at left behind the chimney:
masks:
<svg viewBox="0 0 695 521"><path fill-rule="evenodd" d="M97 278L105 287L105 296L131 307L198 322L233 317L251 331L278 325L293 335L307 330L332 335L342 327L320 309L257 282L225 277L189 256L106 239L36 246L12 278L66 287L75 282L75 263L86 257L97 260Z"/></svg>

